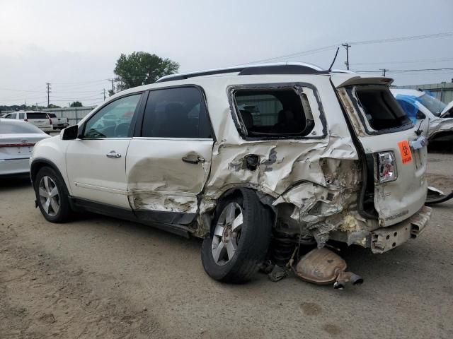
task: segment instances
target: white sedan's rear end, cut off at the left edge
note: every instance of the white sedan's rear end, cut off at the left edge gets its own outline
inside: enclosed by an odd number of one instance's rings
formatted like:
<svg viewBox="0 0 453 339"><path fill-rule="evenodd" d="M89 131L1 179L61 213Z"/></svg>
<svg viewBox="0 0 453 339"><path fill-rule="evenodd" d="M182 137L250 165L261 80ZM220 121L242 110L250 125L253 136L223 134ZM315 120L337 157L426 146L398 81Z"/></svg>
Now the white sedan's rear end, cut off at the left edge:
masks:
<svg viewBox="0 0 453 339"><path fill-rule="evenodd" d="M33 146L45 138L50 136L33 124L0 118L0 176L30 172Z"/></svg>

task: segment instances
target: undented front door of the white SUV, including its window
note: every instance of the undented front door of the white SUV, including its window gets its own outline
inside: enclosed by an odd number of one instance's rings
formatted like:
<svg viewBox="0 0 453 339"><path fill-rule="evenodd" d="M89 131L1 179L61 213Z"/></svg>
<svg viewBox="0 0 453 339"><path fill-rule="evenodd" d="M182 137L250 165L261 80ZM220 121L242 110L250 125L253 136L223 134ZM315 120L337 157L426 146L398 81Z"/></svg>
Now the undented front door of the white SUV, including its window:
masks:
<svg viewBox="0 0 453 339"><path fill-rule="evenodd" d="M69 141L67 174L74 197L130 209L126 153L141 95L109 102L81 126L79 138Z"/></svg>

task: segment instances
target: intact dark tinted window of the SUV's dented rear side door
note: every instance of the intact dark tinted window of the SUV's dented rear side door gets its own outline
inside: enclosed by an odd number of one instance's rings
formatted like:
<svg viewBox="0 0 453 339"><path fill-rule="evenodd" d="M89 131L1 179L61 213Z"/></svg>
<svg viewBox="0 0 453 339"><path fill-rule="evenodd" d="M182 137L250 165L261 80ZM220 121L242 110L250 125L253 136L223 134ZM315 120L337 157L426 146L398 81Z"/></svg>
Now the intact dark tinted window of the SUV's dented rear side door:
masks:
<svg viewBox="0 0 453 339"><path fill-rule="evenodd" d="M149 93L142 136L149 138L212 138L204 97L195 87Z"/></svg>

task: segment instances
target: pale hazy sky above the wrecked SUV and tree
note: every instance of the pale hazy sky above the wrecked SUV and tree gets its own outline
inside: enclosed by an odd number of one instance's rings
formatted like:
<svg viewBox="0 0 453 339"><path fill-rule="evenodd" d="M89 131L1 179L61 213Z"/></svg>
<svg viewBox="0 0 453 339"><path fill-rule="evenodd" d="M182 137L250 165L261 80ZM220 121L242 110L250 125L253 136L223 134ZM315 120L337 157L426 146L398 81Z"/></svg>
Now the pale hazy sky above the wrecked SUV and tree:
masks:
<svg viewBox="0 0 453 339"><path fill-rule="evenodd" d="M177 61L180 72L272 58L328 69L349 42L352 71L389 69L396 85L451 82L452 70L392 70L453 68L453 35L352 42L453 32L452 16L452 0L0 0L0 105L47 105L46 83L55 105L96 105L115 61L134 51ZM341 47L333 68L345 58Z"/></svg>

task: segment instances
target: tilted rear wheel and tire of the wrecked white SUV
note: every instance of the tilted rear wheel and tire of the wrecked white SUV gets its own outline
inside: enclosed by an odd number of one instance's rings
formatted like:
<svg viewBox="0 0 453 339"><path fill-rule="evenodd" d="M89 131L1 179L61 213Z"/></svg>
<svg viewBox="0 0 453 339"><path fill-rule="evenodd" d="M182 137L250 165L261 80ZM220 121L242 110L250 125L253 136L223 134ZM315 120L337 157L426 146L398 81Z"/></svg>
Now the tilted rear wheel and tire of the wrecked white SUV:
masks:
<svg viewBox="0 0 453 339"><path fill-rule="evenodd" d="M210 236L202 244L206 273L224 283L251 280L268 253L272 225L270 210L250 189L221 201Z"/></svg>

